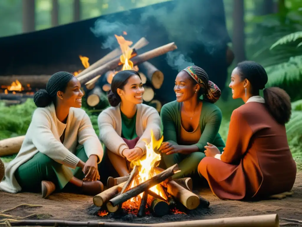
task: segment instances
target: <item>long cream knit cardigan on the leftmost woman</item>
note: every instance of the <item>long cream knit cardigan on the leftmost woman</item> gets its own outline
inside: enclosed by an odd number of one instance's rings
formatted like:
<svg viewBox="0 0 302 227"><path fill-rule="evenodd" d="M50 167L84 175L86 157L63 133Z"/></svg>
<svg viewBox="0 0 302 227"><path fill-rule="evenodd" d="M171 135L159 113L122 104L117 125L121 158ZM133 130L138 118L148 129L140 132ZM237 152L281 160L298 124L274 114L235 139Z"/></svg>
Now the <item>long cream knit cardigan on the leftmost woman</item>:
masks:
<svg viewBox="0 0 302 227"><path fill-rule="evenodd" d="M64 141L61 143L60 137L64 130ZM84 110L70 108L67 122L64 124L57 119L53 104L37 108L18 155L6 167L5 180L0 182L0 190L11 193L21 191L14 173L39 151L56 162L75 169L80 161L74 154L78 144L84 145L88 157L97 155L98 163L101 162L103 148Z"/></svg>

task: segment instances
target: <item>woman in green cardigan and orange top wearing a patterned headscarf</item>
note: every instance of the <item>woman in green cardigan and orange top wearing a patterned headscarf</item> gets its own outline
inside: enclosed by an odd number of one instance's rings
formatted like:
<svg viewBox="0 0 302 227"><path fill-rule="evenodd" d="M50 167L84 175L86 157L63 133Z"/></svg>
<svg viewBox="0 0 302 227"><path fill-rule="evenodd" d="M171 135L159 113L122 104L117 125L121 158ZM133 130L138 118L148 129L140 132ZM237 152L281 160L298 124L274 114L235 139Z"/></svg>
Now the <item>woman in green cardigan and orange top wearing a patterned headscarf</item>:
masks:
<svg viewBox="0 0 302 227"><path fill-rule="evenodd" d="M167 168L178 163L181 172L173 176L177 179L197 173L207 143L220 152L225 143L218 133L222 113L213 104L221 92L207 73L198 66L185 68L175 79L174 91L176 101L165 104L160 113L165 142L159 150Z"/></svg>

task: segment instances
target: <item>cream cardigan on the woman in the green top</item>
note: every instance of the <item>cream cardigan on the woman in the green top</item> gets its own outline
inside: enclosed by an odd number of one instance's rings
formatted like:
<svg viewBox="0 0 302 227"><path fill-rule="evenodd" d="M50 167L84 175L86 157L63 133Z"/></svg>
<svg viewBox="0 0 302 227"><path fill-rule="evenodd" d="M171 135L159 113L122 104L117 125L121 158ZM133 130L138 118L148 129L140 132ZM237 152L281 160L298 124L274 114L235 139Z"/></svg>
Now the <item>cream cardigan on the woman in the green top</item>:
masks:
<svg viewBox="0 0 302 227"><path fill-rule="evenodd" d="M100 140L110 151L122 156L122 151L128 148L121 138L122 120L120 116L120 105L103 110L98 116L98 127ZM145 104L137 105L136 133L140 137L136 147L140 147L146 153L146 142L151 141L151 130L158 140L162 135L162 123L159 113L153 107Z"/></svg>

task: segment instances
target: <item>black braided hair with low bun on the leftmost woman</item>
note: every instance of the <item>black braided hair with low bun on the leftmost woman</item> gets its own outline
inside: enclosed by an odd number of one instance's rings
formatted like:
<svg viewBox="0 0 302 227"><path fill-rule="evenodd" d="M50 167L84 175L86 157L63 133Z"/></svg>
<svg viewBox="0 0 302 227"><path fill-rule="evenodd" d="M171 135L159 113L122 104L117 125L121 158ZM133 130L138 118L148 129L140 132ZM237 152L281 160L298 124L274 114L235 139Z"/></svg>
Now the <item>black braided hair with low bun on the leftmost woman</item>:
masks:
<svg viewBox="0 0 302 227"><path fill-rule="evenodd" d="M65 92L68 82L73 75L69 72L57 72L53 74L46 85L45 89L40 89L34 94L34 103L37 107L47 107L51 102L56 102L57 92Z"/></svg>

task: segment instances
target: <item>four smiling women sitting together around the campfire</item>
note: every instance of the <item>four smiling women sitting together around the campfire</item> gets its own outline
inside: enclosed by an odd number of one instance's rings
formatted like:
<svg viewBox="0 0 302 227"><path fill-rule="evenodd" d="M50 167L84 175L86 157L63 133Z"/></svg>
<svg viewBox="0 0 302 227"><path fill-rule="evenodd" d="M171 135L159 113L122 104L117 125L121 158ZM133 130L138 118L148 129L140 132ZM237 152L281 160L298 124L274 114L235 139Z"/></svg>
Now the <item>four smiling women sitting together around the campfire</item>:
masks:
<svg viewBox="0 0 302 227"><path fill-rule="evenodd" d="M263 199L287 192L297 172L285 130L291 103L284 90L265 88L267 81L265 69L253 61L233 70L229 87L233 98L245 104L233 111L224 143L218 133L222 113L214 104L221 92L200 67L178 73L176 100L165 104L160 114L143 104L140 75L118 72L108 92L111 107L98 116L99 137L80 109L78 79L68 72L55 73L46 90L34 95L39 108L0 189L40 191L43 198L63 189L95 195L104 188L101 176L110 172L107 160L119 176L129 174L130 162L144 158L153 132L156 139L164 137L161 164L168 168L178 163L181 171L174 179L204 178L220 199Z"/></svg>

